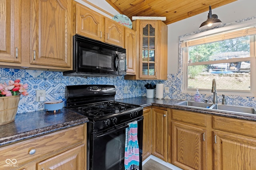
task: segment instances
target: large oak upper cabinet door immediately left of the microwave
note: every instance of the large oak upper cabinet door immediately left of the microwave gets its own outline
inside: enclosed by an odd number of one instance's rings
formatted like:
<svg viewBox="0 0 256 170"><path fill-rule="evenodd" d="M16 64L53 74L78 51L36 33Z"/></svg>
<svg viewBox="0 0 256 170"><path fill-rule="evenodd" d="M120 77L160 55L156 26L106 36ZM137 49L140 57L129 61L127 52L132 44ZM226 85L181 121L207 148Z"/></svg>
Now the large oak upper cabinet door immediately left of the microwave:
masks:
<svg viewBox="0 0 256 170"><path fill-rule="evenodd" d="M72 0L31 0L31 64L71 66L72 3Z"/></svg>

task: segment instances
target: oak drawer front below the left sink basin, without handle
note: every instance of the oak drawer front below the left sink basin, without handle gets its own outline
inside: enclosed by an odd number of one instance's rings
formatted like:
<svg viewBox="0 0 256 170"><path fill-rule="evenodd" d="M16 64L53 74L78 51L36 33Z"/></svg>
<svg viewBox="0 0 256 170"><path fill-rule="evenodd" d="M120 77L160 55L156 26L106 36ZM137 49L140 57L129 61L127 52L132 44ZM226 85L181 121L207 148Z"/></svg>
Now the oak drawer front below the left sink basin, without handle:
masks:
<svg viewBox="0 0 256 170"><path fill-rule="evenodd" d="M183 110L172 110L172 120L204 126L207 124L207 115Z"/></svg>

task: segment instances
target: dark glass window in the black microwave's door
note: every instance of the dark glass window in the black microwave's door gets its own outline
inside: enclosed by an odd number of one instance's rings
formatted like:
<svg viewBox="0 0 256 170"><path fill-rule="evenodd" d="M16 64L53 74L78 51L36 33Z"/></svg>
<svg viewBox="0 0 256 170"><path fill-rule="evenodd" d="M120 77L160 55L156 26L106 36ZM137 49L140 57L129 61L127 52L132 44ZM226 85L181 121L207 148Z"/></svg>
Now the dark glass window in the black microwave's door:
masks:
<svg viewBox="0 0 256 170"><path fill-rule="evenodd" d="M100 49L100 47L80 47L80 66L85 68L100 67L113 70L113 51Z"/></svg>

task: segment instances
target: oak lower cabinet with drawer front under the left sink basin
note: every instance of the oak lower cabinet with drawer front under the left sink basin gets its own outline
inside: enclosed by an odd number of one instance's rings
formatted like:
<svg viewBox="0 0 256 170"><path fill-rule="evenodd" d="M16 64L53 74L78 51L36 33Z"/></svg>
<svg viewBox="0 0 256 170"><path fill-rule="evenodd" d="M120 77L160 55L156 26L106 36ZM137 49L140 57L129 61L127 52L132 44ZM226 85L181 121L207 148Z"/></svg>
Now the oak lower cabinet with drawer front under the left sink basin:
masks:
<svg viewBox="0 0 256 170"><path fill-rule="evenodd" d="M184 170L212 169L212 137L207 129L210 120L210 115L172 109L170 163Z"/></svg>

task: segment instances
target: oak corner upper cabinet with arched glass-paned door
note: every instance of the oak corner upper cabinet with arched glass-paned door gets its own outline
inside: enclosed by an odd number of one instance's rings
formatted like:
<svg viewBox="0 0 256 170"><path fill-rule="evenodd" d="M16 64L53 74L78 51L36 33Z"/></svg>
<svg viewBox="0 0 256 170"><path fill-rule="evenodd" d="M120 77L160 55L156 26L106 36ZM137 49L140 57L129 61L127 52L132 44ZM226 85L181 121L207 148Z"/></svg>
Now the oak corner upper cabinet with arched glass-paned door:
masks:
<svg viewBox="0 0 256 170"><path fill-rule="evenodd" d="M138 32L136 76L127 80L167 80L167 26L159 20L132 22Z"/></svg>

